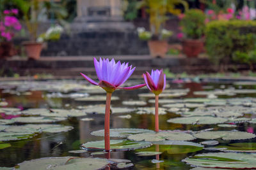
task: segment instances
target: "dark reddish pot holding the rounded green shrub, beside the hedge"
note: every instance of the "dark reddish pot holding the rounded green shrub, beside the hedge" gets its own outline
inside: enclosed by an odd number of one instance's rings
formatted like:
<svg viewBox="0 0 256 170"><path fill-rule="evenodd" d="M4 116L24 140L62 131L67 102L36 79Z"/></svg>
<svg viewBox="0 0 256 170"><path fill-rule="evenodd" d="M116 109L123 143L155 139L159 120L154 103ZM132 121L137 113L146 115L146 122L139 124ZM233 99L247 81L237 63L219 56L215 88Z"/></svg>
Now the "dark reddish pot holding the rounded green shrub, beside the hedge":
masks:
<svg viewBox="0 0 256 170"><path fill-rule="evenodd" d="M202 39L184 39L182 47L187 57L197 57L204 49L204 42Z"/></svg>

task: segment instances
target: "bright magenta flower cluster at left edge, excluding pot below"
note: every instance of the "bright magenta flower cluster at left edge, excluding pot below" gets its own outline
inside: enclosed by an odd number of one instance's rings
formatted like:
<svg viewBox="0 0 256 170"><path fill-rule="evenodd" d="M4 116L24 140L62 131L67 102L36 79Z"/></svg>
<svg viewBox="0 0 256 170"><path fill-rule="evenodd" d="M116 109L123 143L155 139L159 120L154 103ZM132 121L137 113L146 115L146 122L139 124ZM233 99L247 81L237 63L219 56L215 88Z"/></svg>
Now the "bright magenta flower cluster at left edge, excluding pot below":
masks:
<svg viewBox="0 0 256 170"><path fill-rule="evenodd" d="M0 38L5 41L11 41L15 32L20 31L22 28L19 20L15 15L17 15L19 11L17 9L12 10L4 10L3 18L0 20Z"/></svg>

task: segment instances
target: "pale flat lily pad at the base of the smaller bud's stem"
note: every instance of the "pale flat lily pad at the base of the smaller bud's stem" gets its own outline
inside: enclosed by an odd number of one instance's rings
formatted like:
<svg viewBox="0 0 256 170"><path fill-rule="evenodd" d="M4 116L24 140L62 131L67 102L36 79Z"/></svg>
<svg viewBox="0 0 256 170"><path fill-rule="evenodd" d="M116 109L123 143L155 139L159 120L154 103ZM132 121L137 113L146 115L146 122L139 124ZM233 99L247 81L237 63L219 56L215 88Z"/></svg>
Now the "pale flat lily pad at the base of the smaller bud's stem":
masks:
<svg viewBox="0 0 256 170"><path fill-rule="evenodd" d="M191 141L195 139L191 134L186 132L175 132L175 131L168 131L168 132L158 132L158 133L143 133L143 134L132 134L128 136L128 139L134 141L164 141L164 140L177 140L177 141Z"/></svg>

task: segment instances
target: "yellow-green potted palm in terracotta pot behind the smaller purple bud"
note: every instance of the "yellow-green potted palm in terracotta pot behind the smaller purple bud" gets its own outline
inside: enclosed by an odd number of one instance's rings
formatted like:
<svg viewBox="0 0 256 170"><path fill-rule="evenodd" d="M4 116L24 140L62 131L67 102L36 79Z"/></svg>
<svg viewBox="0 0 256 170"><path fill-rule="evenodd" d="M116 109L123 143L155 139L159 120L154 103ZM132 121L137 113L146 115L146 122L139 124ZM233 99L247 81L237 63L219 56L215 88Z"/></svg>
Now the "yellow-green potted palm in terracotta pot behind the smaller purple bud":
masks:
<svg viewBox="0 0 256 170"><path fill-rule="evenodd" d="M139 8L145 6L150 24L150 32L145 32L145 30L138 31L139 38L141 36L148 38L144 40L148 40L150 55L153 57L164 57L168 51L167 39L172 36L172 31L163 29L163 26L164 22L168 20L167 13L180 13L180 10L175 10L175 5L177 4L183 4L185 9L188 8L188 3L183 0L143 0L138 3Z"/></svg>

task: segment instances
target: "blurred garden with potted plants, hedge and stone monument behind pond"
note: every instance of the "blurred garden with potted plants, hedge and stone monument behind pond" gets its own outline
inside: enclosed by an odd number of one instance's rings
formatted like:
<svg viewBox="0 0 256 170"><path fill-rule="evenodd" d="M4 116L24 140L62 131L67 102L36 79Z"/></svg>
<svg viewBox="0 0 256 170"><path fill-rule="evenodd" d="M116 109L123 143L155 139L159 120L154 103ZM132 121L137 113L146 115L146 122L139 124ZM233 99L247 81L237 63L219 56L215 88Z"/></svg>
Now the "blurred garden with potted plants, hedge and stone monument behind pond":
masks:
<svg viewBox="0 0 256 170"><path fill-rule="evenodd" d="M250 0L0 0L0 76L94 74L93 57L169 78L256 76Z"/></svg>

